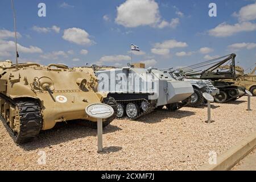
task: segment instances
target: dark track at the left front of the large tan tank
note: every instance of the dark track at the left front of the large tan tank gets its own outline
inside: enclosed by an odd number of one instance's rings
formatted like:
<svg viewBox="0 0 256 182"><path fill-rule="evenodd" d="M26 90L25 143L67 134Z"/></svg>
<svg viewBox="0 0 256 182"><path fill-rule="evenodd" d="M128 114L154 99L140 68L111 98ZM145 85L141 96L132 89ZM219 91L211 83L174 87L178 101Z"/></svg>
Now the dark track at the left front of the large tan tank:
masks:
<svg viewBox="0 0 256 182"><path fill-rule="evenodd" d="M3 99L5 99L6 102L9 102L10 105L18 106L19 109L20 132L18 134L11 129L6 119L0 114L0 119L14 142L22 144L29 142L32 138L38 136L42 129L42 114L39 103L26 99L19 99L16 101L6 98Z"/></svg>

